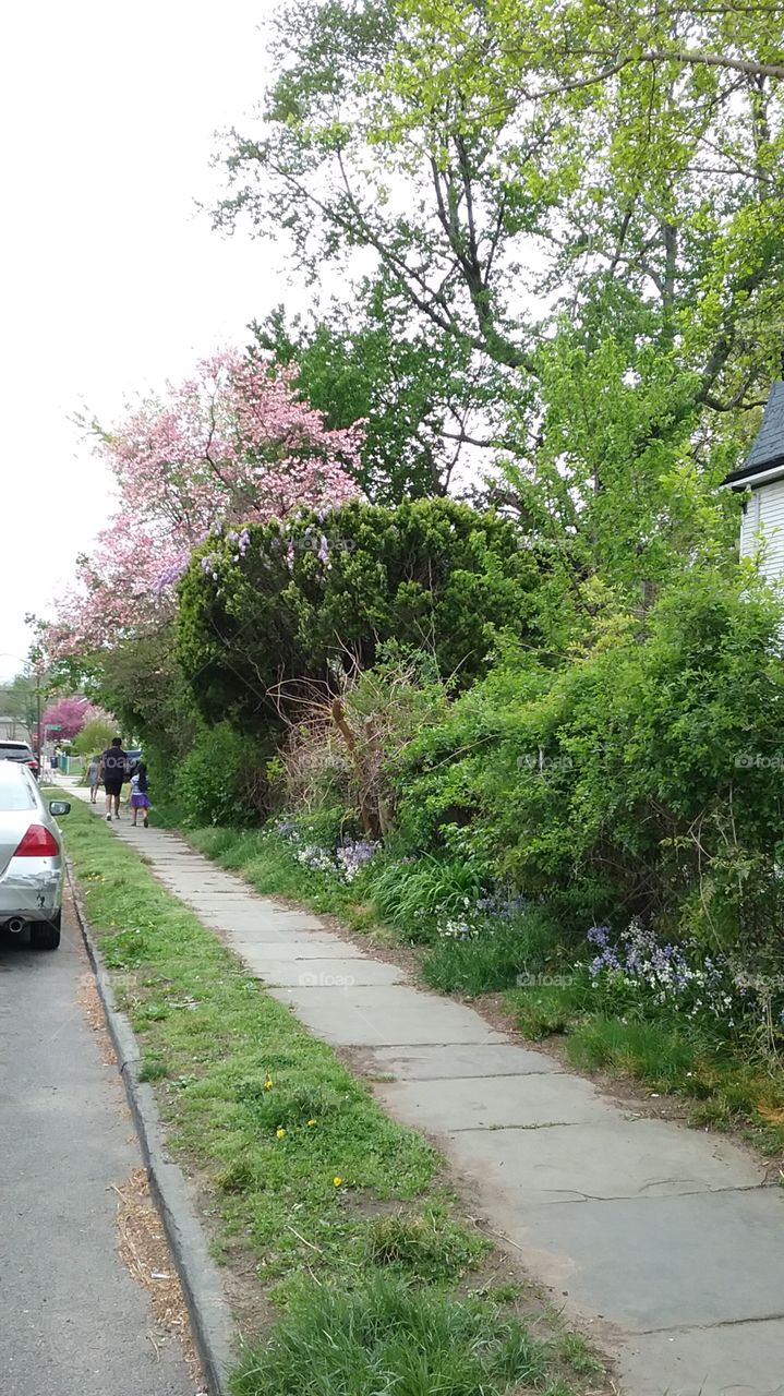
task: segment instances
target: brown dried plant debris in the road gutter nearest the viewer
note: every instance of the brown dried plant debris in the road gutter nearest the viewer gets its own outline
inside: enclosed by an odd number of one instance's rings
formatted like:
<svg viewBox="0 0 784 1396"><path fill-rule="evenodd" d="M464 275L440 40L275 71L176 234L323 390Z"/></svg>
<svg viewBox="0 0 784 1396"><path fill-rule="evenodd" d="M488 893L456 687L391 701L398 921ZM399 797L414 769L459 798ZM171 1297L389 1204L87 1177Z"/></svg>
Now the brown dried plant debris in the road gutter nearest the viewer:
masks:
<svg viewBox="0 0 784 1396"><path fill-rule="evenodd" d="M191 1381L204 1389L183 1289L169 1252L163 1223L149 1195L144 1168L134 1168L117 1194L117 1254L149 1295L155 1328L148 1333L156 1353L176 1337L181 1344Z"/></svg>

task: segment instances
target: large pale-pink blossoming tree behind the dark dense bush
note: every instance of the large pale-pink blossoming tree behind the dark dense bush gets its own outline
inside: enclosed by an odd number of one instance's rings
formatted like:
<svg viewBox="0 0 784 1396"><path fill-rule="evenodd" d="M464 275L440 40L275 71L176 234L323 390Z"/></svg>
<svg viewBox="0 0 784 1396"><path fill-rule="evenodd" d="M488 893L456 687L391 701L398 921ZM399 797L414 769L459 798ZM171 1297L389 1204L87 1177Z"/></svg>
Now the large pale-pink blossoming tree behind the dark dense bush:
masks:
<svg viewBox="0 0 784 1396"><path fill-rule="evenodd" d="M85 655L167 620L173 584L215 526L241 530L360 494L350 472L363 424L325 427L297 396L294 373L272 376L265 362L226 350L116 430L99 431L119 507L92 556L77 563L78 586L49 630L53 658ZM240 547L243 537L237 532Z"/></svg>

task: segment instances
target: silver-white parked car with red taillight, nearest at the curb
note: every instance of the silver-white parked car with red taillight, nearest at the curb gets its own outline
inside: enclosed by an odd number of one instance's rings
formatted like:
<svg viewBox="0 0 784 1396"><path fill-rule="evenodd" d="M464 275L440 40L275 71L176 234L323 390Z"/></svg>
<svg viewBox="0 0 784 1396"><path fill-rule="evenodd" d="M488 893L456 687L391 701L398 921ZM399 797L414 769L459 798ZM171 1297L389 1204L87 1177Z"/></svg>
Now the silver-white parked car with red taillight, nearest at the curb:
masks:
<svg viewBox="0 0 784 1396"><path fill-rule="evenodd" d="M46 801L29 768L0 761L0 928L29 927L31 945L56 951L63 914L63 847L56 817L67 800Z"/></svg>

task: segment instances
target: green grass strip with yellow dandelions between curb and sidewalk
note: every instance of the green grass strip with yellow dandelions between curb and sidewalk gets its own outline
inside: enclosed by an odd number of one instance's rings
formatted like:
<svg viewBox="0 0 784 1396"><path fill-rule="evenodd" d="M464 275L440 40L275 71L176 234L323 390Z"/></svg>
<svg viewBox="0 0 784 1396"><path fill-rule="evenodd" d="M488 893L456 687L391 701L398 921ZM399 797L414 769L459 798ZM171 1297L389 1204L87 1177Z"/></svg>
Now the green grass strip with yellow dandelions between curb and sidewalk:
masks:
<svg viewBox="0 0 784 1396"><path fill-rule="evenodd" d="M441 1182L434 1149L389 1120L80 801L66 840L140 1037L141 1075L174 1156L206 1189L213 1249L244 1256L246 1275L252 1259L259 1295L280 1311L234 1390L579 1389L568 1335L544 1312L534 1337L515 1302L463 1297L467 1277L481 1284L491 1248ZM252 863L257 840L223 840L223 854L250 852ZM220 847L220 831L205 842Z"/></svg>

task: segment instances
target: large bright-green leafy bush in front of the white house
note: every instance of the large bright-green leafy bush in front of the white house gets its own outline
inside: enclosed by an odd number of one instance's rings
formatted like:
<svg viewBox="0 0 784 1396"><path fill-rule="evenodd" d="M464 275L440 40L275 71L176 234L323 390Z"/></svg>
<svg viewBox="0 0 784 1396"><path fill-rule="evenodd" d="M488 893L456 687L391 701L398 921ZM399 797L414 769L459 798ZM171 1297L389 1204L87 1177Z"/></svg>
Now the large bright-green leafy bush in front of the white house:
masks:
<svg viewBox="0 0 784 1396"><path fill-rule="evenodd" d="M494 867L564 930L638 914L763 944L784 912L780 625L746 572L695 571L558 670L509 659L396 764L402 849Z"/></svg>

